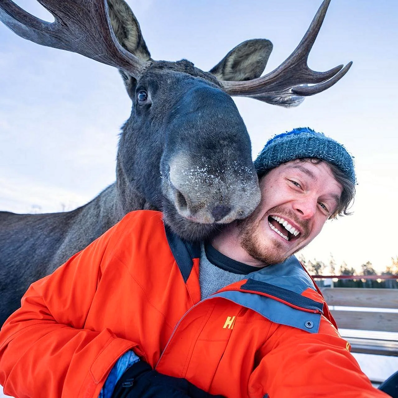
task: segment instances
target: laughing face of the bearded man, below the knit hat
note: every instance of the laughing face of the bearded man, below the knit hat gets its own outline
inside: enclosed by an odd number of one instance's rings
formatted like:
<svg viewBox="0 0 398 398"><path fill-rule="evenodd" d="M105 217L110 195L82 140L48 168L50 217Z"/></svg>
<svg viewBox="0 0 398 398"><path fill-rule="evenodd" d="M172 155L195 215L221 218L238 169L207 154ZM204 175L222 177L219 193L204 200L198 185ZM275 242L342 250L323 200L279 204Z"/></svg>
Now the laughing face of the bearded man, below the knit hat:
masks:
<svg viewBox="0 0 398 398"><path fill-rule="evenodd" d="M238 225L241 246L262 263L279 263L308 245L338 207L342 186L325 162L293 160L260 180L261 202Z"/></svg>

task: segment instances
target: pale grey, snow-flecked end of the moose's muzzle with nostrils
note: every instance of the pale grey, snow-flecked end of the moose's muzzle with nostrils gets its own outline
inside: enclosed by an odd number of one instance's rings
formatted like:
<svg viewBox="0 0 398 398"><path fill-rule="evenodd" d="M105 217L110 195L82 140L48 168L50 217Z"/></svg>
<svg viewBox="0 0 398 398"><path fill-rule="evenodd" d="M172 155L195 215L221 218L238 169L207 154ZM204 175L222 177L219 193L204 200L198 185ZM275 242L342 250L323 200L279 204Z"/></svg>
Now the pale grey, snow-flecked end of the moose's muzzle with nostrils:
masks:
<svg viewBox="0 0 398 398"><path fill-rule="evenodd" d="M260 201L257 174L252 164L231 163L192 166L187 159L175 157L163 188L178 214L202 224L248 217Z"/></svg>

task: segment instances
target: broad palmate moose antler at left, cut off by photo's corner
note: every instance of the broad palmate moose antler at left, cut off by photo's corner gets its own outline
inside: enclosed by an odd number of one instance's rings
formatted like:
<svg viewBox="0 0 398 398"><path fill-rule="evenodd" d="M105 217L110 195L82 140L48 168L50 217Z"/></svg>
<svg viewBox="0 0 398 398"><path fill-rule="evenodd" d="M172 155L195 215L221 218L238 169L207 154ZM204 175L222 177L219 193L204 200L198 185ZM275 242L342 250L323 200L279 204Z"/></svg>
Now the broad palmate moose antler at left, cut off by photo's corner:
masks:
<svg viewBox="0 0 398 398"><path fill-rule="evenodd" d="M38 0L55 21L27 13L11 0L0 0L0 20L24 39L79 53L139 78L149 62L126 51L117 41L107 0Z"/></svg>

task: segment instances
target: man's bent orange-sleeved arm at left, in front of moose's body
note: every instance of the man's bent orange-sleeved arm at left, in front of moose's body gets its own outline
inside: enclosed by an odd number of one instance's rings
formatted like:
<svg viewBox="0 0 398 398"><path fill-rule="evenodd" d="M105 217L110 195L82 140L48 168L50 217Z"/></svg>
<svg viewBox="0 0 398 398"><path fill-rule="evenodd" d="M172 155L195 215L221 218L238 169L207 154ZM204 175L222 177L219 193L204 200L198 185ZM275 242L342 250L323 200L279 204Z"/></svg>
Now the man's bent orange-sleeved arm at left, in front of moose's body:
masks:
<svg viewBox="0 0 398 398"><path fill-rule="evenodd" d="M0 332L0 382L6 394L97 397L123 353L133 349L144 355L109 329L84 329L113 242L129 217L29 287Z"/></svg>

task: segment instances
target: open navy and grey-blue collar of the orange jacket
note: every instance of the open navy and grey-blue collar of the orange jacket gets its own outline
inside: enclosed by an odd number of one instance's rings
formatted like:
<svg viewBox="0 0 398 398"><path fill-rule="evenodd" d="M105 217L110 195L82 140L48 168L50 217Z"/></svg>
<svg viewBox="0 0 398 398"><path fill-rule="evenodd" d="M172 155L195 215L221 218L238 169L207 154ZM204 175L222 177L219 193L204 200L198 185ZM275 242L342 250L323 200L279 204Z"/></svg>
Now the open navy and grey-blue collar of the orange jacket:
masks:
<svg viewBox="0 0 398 398"><path fill-rule="evenodd" d="M189 243L165 225L170 250L187 282L193 269L193 259L200 258L200 244ZM242 283L243 282L243 283ZM316 290L311 277L295 256L283 263L264 267L247 275L247 279L229 285L206 300L222 297L258 312L277 324L317 333L323 304L301 293Z"/></svg>

